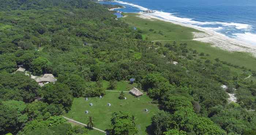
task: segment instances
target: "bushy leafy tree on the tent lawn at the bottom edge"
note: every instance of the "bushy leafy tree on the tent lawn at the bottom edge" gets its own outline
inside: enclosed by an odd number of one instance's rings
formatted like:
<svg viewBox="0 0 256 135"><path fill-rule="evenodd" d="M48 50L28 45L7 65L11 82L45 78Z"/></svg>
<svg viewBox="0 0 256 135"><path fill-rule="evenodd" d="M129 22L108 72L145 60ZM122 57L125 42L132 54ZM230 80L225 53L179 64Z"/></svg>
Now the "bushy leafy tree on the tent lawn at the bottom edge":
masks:
<svg viewBox="0 0 256 135"><path fill-rule="evenodd" d="M131 114L121 111L112 114L109 131L110 135L134 135L138 133L135 123L132 122Z"/></svg>

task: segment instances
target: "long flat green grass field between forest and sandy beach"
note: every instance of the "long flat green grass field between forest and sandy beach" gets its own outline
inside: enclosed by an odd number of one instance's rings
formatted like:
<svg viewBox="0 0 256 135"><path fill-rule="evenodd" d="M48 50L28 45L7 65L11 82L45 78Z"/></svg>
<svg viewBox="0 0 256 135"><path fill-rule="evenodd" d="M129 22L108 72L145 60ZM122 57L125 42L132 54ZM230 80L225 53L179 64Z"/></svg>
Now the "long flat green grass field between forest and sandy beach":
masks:
<svg viewBox="0 0 256 135"><path fill-rule="evenodd" d="M131 27L137 27L143 31L143 38L148 40L187 40L193 39L191 32L199 32L193 28L183 27L180 25L164 22L161 20L148 20L138 17L137 13L124 13L127 15L121 18L124 22L128 23ZM154 31L149 31L153 29ZM161 32L159 32L161 31ZM166 42L162 42L166 43ZM170 42L173 43L173 42ZM194 40L177 41L177 44L187 43L188 48L197 50L197 52L210 54L207 59L213 60L219 58L221 61L230 62L234 65L245 66L249 69L255 70L256 58L249 53L242 52L229 52L210 46L208 43L198 42Z"/></svg>

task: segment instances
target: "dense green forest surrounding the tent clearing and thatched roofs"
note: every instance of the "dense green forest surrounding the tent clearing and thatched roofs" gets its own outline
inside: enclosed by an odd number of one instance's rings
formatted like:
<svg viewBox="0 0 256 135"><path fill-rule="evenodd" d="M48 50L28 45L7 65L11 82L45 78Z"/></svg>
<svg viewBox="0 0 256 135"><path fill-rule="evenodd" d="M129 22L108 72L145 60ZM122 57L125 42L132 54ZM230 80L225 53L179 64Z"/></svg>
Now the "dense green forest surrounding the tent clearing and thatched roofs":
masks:
<svg viewBox="0 0 256 135"><path fill-rule="evenodd" d="M207 54L186 43L150 42L107 8L91 0L0 0L1 135L87 135L61 115L76 97L104 95L102 80L129 78L161 109L151 118L151 134L256 134L256 82L228 66L253 76L255 69L197 59ZM15 72L20 65L57 81L40 87L30 75ZM226 92L236 93L237 103L229 103ZM110 134L137 133L134 127L118 132L120 121L131 126L130 114L114 113Z"/></svg>

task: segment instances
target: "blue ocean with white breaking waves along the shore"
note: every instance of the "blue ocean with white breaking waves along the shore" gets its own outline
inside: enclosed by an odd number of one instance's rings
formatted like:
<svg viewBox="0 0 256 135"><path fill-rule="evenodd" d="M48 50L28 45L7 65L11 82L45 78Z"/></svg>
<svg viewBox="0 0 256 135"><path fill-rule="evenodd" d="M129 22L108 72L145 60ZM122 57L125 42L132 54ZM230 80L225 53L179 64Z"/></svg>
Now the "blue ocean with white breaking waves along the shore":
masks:
<svg viewBox="0 0 256 135"><path fill-rule="evenodd" d="M256 0L116 0L122 12L153 10L159 18L192 24L256 45Z"/></svg>

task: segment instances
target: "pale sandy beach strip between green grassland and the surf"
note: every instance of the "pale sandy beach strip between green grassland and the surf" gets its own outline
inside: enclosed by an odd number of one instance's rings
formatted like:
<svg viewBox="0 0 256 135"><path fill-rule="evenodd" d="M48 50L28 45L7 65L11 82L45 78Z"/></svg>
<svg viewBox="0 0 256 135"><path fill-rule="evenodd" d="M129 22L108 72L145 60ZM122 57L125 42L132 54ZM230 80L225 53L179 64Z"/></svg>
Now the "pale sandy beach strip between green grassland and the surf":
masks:
<svg viewBox="0 0 256 135"><path fill-rule="evenodd" d="M184 27L195 28L202 32L193 32L194 34L193 40L211 43L212 46L218 47L220 49L227 50L227 51L242 51L242 52L251 53L253 56L256 57L256 46L250 45L249 43L245 43L233 38L229 38L215 31L206 30L202 27L193 26L191 24L185 24L185 23L175 22L171 20L166 20L166 19L159 18L157 16L147 14L147 13L139 13L139 14L140 14L139 17L143 19L158 19L165 22L178 24Z"/></svg>

